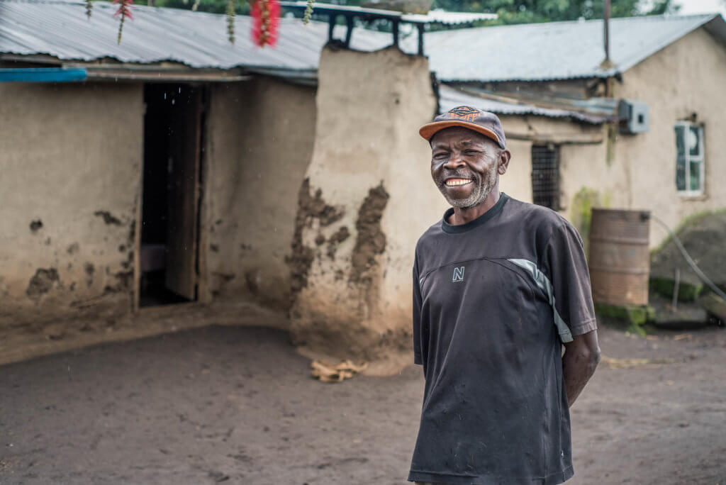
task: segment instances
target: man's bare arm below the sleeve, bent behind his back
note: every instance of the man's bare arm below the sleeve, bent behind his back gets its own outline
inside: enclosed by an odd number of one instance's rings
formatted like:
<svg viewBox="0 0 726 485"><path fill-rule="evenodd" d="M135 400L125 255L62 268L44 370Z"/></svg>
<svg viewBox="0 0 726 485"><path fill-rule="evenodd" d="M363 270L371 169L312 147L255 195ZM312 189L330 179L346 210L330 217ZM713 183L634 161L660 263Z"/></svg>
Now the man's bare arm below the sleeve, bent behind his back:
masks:
<svg viewBox="0 0 726 485"><path fill-rule="evenodd" d="M569 407L572 407L587 381L595 373L598 362L600 362L600 346L597 345L597 331L592 330L577 335L573 341L565 344L562 372Z"/></svg>

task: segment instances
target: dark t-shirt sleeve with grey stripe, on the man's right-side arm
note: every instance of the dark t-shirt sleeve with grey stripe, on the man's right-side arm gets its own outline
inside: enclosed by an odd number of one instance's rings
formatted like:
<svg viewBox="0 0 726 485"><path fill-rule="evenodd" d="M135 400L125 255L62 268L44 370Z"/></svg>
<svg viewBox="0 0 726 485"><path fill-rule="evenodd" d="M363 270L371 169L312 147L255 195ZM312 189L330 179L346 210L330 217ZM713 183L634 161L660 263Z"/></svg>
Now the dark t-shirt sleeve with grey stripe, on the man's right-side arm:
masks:
<svg viewBox="0 0 726 485"><path fill-rule="evenodd" d="M552 285L560 339L569 342L597 329L582 238L567 221L561 221L552 232L544 248L543 266Z"/></svg>

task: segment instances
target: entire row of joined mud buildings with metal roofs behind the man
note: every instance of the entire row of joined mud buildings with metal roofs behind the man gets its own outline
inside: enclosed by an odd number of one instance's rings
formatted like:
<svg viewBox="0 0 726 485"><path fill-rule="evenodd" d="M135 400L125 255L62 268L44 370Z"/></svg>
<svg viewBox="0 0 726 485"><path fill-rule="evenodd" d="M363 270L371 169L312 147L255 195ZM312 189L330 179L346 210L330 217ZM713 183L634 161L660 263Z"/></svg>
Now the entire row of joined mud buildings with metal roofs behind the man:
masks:
<svg viewBox="0 0 726 485"><path fill-rule="evenodd" d="M232 46L224 17L152 7L116 44L112 12L0 0L4 333L72 340L88 319L133 329L151 306L253 302L289 315L310 354L400 366L412 248L445 208L417 127L454 105L499 113L504 190L583 232L591 205L671 225L726 205L719 16L613 20L603 63L598 22L390 46L283 18L258 49L246 17Z"/></svg>

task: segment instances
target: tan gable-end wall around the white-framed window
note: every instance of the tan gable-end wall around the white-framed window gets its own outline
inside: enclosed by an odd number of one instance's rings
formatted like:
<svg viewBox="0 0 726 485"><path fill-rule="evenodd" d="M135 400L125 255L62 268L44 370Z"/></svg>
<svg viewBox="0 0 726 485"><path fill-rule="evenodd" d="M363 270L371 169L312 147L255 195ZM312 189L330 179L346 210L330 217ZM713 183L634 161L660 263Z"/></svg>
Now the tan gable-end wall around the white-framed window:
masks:
<svg viewBox="0 0 726 485"><path fill-rule="evenodd" d="M650 108L650 130L620 135L616 157L627 166L629 208L647 208L674 228L686 216L726 207L726 46L700 28L628 70L616 96ZM696 115L705 138L705 192L679 195L675 185L676 121ZM650 244L666 233L652 222ZM696 255L694 255L696 256Z"/></svg>

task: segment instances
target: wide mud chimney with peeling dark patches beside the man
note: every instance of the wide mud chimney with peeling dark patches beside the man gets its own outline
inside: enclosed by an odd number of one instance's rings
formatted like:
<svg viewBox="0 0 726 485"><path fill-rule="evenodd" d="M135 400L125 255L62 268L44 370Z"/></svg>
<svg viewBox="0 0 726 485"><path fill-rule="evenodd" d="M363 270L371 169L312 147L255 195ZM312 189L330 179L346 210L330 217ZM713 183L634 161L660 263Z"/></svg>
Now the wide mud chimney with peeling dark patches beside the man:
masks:
<svg viewBox="0 0 726 485"><path fill-rule="evenodd" d="M425 58L323 50L290 258L293 337L311 354L410 360L414 248L446 208L417 134L435 110Z"/></svg>

